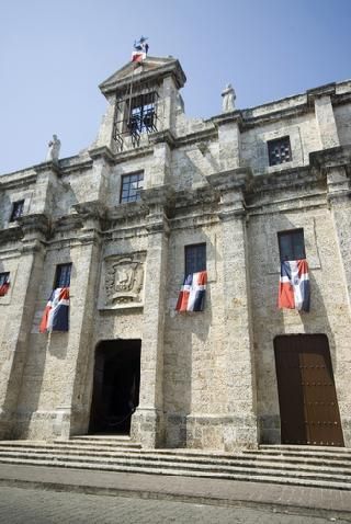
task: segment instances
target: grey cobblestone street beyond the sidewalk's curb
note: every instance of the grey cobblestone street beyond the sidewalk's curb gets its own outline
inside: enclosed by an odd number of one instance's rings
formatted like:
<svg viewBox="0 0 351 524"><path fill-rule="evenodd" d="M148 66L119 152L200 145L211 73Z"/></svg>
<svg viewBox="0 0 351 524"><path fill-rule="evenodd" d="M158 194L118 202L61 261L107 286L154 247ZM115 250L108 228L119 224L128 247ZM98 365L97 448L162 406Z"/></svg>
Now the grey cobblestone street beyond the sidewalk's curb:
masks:
<svg viewBox="0 0 351 524"><path fill-rule="evenodd" d="M186 502L90 495L1 487L1 524L99 523L322 524L350 520L314 517L249 508L220 508Z"/></svg>

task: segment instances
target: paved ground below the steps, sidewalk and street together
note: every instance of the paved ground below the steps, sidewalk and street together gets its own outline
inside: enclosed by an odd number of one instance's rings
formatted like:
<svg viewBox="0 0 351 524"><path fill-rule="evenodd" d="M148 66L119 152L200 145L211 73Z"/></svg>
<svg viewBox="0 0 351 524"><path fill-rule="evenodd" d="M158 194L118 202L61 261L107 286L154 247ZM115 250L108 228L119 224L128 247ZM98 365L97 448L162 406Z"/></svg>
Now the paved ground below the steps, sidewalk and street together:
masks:
<svg viewBox="0 0 351 524"><path fill-rule="evenodd" d="M351 491L0 465L0 524L351 523Z"/></svg>

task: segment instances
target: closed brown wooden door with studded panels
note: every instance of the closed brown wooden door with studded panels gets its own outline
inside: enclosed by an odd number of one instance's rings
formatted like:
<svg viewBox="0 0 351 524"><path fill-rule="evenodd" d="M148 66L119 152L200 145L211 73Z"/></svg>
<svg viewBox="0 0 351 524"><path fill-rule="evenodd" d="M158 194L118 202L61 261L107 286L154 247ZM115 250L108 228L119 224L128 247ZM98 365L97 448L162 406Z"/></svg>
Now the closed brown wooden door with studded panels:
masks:
<svg viewBox="0 0 351 524"><path fill-rule="evenodd" d="M276 337L274 352L282 443L343 446L327 337Z"/></svg>

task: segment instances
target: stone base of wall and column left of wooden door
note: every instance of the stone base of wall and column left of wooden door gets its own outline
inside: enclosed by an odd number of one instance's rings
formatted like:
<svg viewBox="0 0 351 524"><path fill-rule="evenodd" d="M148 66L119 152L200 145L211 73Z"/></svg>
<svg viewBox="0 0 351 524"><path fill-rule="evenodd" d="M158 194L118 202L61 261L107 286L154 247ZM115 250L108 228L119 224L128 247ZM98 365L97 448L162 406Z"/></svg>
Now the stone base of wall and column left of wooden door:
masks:
<svg viewBox="0 0 351 524"><path fill-rule="evenodd" d="M225 452L258 447L254 417L169 414L166 434L167 447Z"/></svg>

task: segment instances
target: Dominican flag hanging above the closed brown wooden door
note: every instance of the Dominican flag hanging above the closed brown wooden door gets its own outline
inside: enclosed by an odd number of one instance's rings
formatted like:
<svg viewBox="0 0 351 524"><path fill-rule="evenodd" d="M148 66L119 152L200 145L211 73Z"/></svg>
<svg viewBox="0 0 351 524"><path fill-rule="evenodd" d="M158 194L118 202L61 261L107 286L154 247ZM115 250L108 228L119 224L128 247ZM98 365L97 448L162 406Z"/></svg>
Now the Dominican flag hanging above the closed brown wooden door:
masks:
<svg viewBox="0 0 351 524"><path fill-rule="evenodd" d="M279 284L279 309L309 311L309 276L307 260L282 262Z"/></svg>

